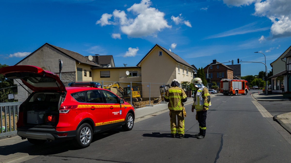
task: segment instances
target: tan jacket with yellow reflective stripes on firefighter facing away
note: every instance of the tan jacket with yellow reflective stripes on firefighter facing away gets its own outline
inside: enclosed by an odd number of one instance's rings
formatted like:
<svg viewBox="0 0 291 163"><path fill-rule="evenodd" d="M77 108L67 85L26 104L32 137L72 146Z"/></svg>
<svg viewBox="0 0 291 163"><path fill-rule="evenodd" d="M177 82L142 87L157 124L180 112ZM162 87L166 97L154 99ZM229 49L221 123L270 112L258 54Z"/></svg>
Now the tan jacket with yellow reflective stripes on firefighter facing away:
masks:
<svg viewBox="0 0 291 163"><path fill-rule="evenodd" d="M182 99L187 98L186 93L182 88L177 86L169 88L165 93L165 99L168 99L168 108L174 111L182 111L183 103Z"/></svg>

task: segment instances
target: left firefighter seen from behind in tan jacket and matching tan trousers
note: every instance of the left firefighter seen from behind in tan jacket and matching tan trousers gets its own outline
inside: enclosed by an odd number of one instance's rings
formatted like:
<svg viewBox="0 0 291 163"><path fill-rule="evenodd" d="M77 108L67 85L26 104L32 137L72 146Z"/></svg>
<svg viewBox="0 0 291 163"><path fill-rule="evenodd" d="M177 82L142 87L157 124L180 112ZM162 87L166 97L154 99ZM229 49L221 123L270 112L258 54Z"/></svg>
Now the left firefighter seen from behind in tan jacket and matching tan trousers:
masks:
<svg viewBox="0 0 291 163"><path fill-rule="evenodd" d="M176 137L178 131L179 138L184 137L184 115L183 115L183 102L187 101L187 95L182 88L179 88L180 84L177 79L174 79L164 96L164 99L168 103L168 109L170 110L170 123L171 123L171 135ZM176 116L178 118L178 125L176 122Z"/></svg>

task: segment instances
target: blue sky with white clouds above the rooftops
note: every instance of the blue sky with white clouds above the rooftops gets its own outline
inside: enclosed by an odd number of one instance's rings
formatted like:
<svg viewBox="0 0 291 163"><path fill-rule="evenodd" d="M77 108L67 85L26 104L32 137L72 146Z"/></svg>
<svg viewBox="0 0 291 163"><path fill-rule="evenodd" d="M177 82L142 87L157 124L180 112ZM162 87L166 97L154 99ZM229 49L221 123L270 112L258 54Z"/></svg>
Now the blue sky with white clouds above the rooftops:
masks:
<svg viewBox="0 0 291 163"><path fill-rule="evenodd" d="M159 44L197 68L213 59L265 63L254 53L262 52L271 69L291 46L290 8L289 0L2 0L0 63L12 66L49 43L136 66ZM242 76L265 71L261 63L241 68Z"/></svg>

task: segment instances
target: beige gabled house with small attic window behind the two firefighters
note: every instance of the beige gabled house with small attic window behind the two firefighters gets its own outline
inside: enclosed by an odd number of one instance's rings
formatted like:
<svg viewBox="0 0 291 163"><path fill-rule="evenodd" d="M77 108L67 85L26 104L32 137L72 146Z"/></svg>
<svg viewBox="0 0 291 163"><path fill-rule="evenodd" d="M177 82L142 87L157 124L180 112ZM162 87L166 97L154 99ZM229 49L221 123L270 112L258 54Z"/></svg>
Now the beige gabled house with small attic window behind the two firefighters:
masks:
<svg viewBox="0 0 291 163"><path fill-rule="evenodd" d="M136 66L142 68L141 81L143 83L171 84L173 79L178 79L180 83L183 81L191 82L193 79L194 67L158 44ZM149 94L148 91L147 86L143 86L143 94ZM151 92L151 94L155 93L159 93L159 90Z"/></svg>

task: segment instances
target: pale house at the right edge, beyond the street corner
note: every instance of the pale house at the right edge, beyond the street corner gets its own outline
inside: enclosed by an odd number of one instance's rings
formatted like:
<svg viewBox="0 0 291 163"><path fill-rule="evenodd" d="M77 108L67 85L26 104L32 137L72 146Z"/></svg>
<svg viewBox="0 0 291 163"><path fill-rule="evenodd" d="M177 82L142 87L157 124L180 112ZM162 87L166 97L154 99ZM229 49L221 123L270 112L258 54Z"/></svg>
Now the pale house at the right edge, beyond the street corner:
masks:
<svg viewBox="0 0 291 163"><path fill-rule="evenodd" d="M286 73L286 58L285 55L291 52L291 46L283 52L275 61L270 65L273 68L273 76L271 78L272 93L282 93L281 84L285 86L285 91L288 90L287 86L287 73Z"/></svg>

